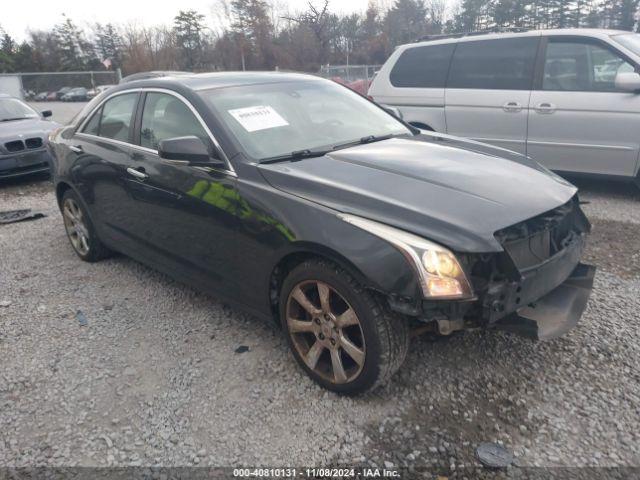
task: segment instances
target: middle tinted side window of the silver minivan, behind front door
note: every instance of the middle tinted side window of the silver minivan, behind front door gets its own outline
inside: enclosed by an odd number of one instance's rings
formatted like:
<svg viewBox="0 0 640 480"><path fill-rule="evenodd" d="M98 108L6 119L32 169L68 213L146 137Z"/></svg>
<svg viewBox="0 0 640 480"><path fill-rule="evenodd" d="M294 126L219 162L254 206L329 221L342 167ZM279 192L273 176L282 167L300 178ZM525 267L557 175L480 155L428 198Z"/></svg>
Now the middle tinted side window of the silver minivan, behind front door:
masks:
<svg viewBox="0 0 640 480"><path fill-rule="evenodd" d="M538 37L460 42L447 88L531 90Z"/></svg>

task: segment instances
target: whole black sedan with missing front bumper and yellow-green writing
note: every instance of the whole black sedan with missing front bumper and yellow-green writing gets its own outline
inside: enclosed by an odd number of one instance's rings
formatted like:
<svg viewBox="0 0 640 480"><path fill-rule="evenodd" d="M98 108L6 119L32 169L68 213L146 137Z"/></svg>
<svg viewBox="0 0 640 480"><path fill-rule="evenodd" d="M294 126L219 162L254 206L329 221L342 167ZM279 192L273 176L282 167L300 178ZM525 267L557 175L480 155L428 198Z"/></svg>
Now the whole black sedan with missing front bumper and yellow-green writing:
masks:
<svg viewBox="0 0 640 480"><path fill-rule="evenodd" d="M386 382L411 329L551 338L591 291L575 187L316 77L126 83L52 149L81 259L122 252L277 319L302 368L337 392Z"/></svg>

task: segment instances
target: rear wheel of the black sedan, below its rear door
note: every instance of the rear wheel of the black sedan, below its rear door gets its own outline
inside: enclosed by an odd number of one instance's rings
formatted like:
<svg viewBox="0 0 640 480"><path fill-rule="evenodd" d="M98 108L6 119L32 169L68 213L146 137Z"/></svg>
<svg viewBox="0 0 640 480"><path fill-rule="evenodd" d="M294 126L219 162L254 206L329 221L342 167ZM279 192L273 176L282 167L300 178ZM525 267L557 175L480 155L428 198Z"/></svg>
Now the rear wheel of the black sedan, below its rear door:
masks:
<svg viewBox="0 0 640 480"><path fill-rule="evenodd" d="M73 251L85 262L97 262L112 255L98 238L80 196L69 189L62 195L60 211Z"/></svg>

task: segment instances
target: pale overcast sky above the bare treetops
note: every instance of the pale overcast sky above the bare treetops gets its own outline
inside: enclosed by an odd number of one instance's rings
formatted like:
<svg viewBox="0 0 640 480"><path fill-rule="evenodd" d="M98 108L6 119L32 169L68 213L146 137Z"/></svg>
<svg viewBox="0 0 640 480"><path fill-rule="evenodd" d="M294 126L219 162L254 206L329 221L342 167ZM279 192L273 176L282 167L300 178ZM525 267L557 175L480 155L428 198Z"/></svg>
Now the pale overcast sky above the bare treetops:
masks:
<svg viewBox="0 0 640 480"><path fill-rule="evenodd" d="M198 10L211 23L219 22L220 2L224 0L3 0L0 27L22 41L28 30L42 30L70 17L82 28L100 23L139 23L142 25L172 24L178 10ZM279 11L304 10L307 0L267 0L276 3ZM323 0L313 0L322 5ZM385 0L377 3L385 3ZM364 12L368 0L330 0L329 7L337 13Z"/></svg>

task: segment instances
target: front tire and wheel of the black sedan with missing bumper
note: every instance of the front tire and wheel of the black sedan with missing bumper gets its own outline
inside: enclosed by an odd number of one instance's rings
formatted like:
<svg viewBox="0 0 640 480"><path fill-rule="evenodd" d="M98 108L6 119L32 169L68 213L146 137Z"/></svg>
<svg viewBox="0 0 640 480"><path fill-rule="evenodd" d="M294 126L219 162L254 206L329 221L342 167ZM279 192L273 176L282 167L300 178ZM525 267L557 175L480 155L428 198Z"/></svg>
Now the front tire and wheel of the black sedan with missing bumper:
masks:
<svg viewBox="0 0 640 480"><path fill-rule="evenodd" d="M293 356L327 390L373 390L389 381L407 355L409 322L332 262L308 260L294 268L283 282L279 307Z"/></svg>

